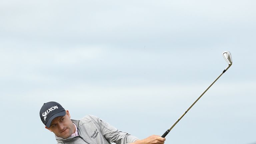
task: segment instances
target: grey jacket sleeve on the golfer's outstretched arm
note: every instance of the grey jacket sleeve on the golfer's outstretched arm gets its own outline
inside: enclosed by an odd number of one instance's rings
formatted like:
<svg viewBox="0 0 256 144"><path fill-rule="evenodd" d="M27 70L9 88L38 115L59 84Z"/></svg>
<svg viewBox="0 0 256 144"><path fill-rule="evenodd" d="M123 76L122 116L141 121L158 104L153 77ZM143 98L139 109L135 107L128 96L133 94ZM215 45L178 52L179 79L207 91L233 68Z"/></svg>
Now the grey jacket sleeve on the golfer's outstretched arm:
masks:
<svg viewBox="0 0 256 144"><path fill-rule="evenodd" d="M105 139L116 144L128 144L138 140L137 137L128 134L127 132L119 131L114 126L98 118L101 132Z"/></svg>

